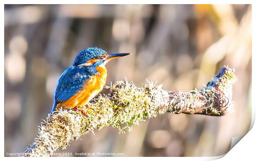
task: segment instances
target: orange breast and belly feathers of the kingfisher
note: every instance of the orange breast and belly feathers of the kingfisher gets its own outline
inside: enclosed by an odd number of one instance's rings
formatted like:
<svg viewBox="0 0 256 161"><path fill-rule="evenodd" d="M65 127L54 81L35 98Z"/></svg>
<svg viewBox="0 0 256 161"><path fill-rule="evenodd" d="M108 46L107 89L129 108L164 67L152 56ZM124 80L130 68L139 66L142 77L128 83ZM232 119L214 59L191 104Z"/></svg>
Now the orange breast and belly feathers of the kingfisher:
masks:
<svg viewBox="0 0 256 161"><path fill-rule="evenodd" d="M107 69L103 67L96 67L98 73L90 76L88 80L84 82L82 90L78 91L67 101L58 103L56 108L59 107L76 107L85 106L91 99L93 99L103 89L107 80Z"/></svg>

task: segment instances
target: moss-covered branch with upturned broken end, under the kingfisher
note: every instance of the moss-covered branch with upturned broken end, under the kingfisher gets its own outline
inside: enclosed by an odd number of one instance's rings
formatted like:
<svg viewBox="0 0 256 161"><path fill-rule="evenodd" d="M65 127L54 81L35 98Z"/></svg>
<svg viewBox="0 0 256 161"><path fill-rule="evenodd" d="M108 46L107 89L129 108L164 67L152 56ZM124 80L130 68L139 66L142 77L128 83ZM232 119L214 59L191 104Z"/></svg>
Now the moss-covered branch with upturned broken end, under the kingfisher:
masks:
<svg viewBox="0 0 256 161"><path fill-rule="evenodd" d="M89 131L109 125L120 132L130 131L145 118L165 112L226 115L234 106L232 86L236 79L235 70L224 66L204 88L190 92L166 91L154 83L136 87L133 83L118 81L111 86L109 94L100 95L88 106L79 108L86 115L72 109L49 114L24 156L52 156Z"/></svg>

